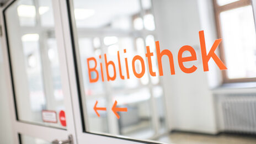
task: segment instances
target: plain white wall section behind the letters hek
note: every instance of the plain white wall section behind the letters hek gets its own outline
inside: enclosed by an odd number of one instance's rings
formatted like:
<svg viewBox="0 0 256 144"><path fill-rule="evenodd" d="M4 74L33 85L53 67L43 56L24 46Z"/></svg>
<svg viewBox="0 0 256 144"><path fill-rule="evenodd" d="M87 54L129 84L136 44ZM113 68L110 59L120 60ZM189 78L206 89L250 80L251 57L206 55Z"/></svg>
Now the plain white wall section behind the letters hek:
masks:
<svg viewBox="0 0 256 144"><path fill-rule="evenodd" d="M199 31L205 30L207 49L210 49L216 38L213 9L204 9L211 1L198 0L154 0L154 14L157 36L161 49L169 49L174 56L175 75L170 75L169 61L163 58L164 92L170 130L183 130L216 134L216 121L213 94L210 86L220 82L216 80L220 70L216 71L213 61L210 72L202 69ZM206 10L209 10L207 12ZM203 14L202 14L203 13ZM204 14L206 13L206 14ZM211 17L209 17L211 16ZM190 67L198 67L194 73L183 73L178 65L177 55L180 47L190 45L196 50L198 61L188 62ZM212 66L213 65L213 66ZM211 79L209 79L211 78ZM210 80L210 81L209 81ZM209 85L210 84L210 85Z"/></svg>

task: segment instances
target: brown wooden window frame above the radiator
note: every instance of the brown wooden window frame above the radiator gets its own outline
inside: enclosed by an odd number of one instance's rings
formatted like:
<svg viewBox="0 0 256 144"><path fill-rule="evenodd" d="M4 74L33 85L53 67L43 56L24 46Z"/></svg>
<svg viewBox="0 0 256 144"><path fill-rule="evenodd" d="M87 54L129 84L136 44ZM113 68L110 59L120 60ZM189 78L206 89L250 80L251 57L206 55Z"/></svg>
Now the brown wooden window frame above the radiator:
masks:
<svg viewBox="0 0 256 144"><path fill-rule="evenodd" d="M220 13L225 12L227 10L231 9L236 9L244 6L249 6L251 5L253 7L253 2L252 0L239 0L236 2L228 3L223 6L219 6L217 3L217 0L212 0L213 5L214 5L214 14L215 14L215 22L216 22L216 30L217 30L217 37L222 38L222 30L221 30L221 20L220 20ZM254 8L254 7L253 7ZM254 14L254 25L255 24L255 12ZM256 31L255 31L256 32ZM226 63L226 58L225 58L225 47L223 46L223 42L220 43L220 58L221 60ZM256 82L256 77L253 78L228 78L227 76L227 70L222 71L222 83L239 83L239 82Z"/></svg>

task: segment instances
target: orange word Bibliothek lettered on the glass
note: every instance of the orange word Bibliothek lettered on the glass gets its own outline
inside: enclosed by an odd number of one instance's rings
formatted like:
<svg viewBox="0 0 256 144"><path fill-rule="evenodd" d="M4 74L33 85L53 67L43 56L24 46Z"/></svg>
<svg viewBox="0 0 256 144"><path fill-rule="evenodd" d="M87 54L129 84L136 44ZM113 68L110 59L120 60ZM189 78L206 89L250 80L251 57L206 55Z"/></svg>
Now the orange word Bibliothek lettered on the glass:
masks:
<svg viewBox="0 0 256 144"><path fill-rule="evenodd" d="M227 67L224 65L224 63L220 60L220 58L215 54L215 50L217 49L218 45L220 45L221 39L217 39L215 40L214 44L212 45L210 51L206 52L206 46L205 46L205 36L204 36L204 31L199 31L199 39L200 39L200 47L201 47L201 57L202 57L202 65L204 67L204 71L209 71L209 66L208 66L208 62L210 60L210 58L212 58L216 65L218 66L218 68L220 68L220 70L227 70ZM170 74L175 74L175 70L174 70L174 61L173 61L173 54L172 52L170 52L169 50L165 49L165 50L160 50L160 46L159 46L159 41L156 41L156 56L157 56L157 62L158 62L158 72L159 72L159 76L163 76L163 67L162 67L162 57L163 56L168 56L169 58L169 66L170 66ZM150 51L150 47L146 46L146 57L147 57L147 62L148 62L148 70L150 72L151 76L156 76L156 72L153 71L152 68L152 56L154 55L153 52ZM183 57L182 54L185 51L189 51L191 56L188 57ZM126 49L124 49L124 54L126 53ZM130 78L130 70L129 70L129 66L128 66L128 61L127 61L127 57L125 57L125 68L126 68L126 73L122 73L122 67L121 67L121 62L120 62L120 53L119 51L117 52L117 57L118 57L118 66L119 66L119 76L121 79L125 79L125 76L127 79ZM99 58L102 58L102 56L100 55ZM178 63L179 63L179 67L180 70L182 70L184 73L193 73L196 71L196 69L198 67L196 67L195 65L191 66L191 67L185 67L183 65L183 62L188 62L188 61L196 61L197 60L197 56L196 56L196 52L193 49L193 47L189 46L189 45L185 45L182 46L178 52ZM90 66L90 61L93 61L95 63L95 65L92 67ZM116 65L114 63L114 61L108 61L108 57L106 56L106 54L104 54L104 61L105 61L105 71L106 71L106 80L107 81L114 81L116 79ZM141 71L140 72L136 72L135 69L135 62L139 61L141 64ZM104 82L104 74L103 74L103 65L102 62L100 63L100 75L102 76L102 81ZM90 83L94 83L97 82L99 80L99 71L97 70L97 65L98 62L96 60L95 57L89 57L87 58L87 66L88 66L88 74L89 74L89 82ZM134 56L134 58L132 58L132 72L134 73L134 75L137 78L141 78L143 77L143 75L145 74L145 60L143 60L143 58L140 55L136 55ZM112 67L114 70L114 73L109 73L109 68ZM92 73L95 73L95 77L92 77Z"/></svg>

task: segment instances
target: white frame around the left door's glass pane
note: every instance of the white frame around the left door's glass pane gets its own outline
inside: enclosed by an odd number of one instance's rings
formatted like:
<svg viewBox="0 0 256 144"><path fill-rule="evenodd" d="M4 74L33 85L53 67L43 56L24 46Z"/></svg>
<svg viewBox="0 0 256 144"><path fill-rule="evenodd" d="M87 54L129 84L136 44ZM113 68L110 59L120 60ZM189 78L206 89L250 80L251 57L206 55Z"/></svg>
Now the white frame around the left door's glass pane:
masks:
<svg viewBox="0 0 256 144"><path fill-rule="evenodd" d="M62 29L62 22L61 22L61 11L58 6L60 6L59 1L53 0L52 7L54 10L54 19L55 19L55 34L56 34L56 41L57 41L57 50L58 50L58 58L60 61L60 72L61 72L61 84L62 90L64 95L64 106L65 106L65 113L66 113L66 130L65 129L58 129L54 127L47 127L42 125L35 125L29 124L29 122L20 122L17 120L17 109L15 107L15 98L14 98L14 91L13 91L13 80L11 74L11 67L10 67L10 60L9 60L9 52L8 52L8 41L7 41L7 29L6 23L4 22L4 10L6 10L10 5L12 5L14 1L9 1L6 3L0 10L1 10L1 25L2 25L2 47L3 47L3 61L4 61L4 70L6 73L6 81L7 84L7 94L9 97L9 109L10 115L12 119L12 129L13 129L13 138L14 143L20 143L19 135L27 135L35 138L40 138L45 141L53 141L53 140L67 140L68 135L73 136L73 142L77 143L76 134L74 129L74 119L73 119L73 112L72 112L72 103L71 103L71 94L70 94L70 86L68 83L68 71L66 65L66 55L65 55L65 42L63 39L63 29Z"/></svg>

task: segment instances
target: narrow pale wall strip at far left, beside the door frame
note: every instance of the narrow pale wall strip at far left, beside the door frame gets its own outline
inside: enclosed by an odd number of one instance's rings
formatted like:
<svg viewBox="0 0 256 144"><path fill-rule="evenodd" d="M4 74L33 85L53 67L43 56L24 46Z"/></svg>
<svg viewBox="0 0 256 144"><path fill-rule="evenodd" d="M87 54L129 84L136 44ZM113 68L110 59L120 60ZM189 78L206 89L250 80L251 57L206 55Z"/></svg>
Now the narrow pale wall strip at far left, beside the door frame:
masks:
<svg viewBox="0 0 256 144"><path fill-rule="evenodd" d="M0 143L12 144L12 120L10 118L9 99L5 79L2 46L0 44Z"/></svg>

